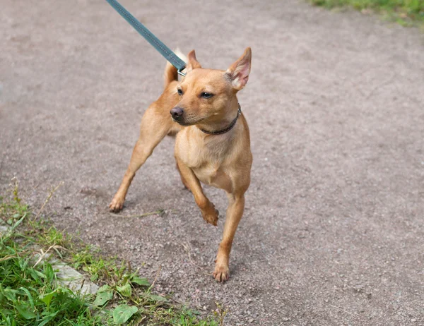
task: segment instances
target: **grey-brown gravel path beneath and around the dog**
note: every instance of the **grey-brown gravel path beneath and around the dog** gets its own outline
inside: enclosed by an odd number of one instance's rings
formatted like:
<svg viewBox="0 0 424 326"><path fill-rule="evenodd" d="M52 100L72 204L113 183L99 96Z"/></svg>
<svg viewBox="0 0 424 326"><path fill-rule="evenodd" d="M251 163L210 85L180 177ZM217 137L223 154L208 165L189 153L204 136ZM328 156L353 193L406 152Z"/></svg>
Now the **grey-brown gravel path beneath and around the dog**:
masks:
<svg viewBox="0 0 424 326"><path fill-rule="evenodd" d="M206 225L165 140L121 181L165 61L105 1L0 0L0 190L154 277L227 325L424 325L424 37L302 1L123 0L201 64L226 68L252 47L240 103L252 133L247 209L232 278L209 274L223 229ZM221 212L224 193L206 192ZM189 259L189 253L191 260ZM199 267L198 267L199 266Z"/></svg>

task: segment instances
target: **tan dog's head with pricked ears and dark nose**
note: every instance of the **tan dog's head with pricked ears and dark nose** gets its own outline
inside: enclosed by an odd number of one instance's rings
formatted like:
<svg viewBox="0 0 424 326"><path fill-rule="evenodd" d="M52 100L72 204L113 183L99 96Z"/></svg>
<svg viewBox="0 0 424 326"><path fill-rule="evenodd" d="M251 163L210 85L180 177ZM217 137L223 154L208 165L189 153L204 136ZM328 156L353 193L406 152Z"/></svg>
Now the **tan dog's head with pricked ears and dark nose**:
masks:
<svg viewBox="0 0 424 326"><path fill-rule="evenodd" d="M188 55L186 76L177 85L178 104L171 109L172 119L182 126L215 123L237 111L236 93L249 79L252 50L235 61L227 71L201 68L194 50ZM234 114L232 114L234 115Z"/></svg>

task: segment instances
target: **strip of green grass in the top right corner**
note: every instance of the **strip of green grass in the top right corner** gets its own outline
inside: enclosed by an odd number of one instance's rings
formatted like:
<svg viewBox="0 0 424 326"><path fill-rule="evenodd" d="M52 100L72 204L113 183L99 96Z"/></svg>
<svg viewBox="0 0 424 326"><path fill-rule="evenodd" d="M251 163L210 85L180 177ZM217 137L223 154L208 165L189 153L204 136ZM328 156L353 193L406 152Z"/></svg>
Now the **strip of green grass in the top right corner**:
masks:
<svg viewBox="0 0 424 326"><path fill-rule="evenodd" d="M309 0L325 8L349 6L359 11L380 13L404 26L424 26L424 0Z"/></svg>

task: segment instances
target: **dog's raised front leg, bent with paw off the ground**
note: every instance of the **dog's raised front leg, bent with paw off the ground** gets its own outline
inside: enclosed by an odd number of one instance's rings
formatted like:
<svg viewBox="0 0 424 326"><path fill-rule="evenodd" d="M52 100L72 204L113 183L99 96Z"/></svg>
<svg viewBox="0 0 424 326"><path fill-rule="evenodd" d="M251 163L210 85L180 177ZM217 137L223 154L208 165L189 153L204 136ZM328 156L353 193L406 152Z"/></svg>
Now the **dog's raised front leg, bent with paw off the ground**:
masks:
<svg viewBox="0 0 424 326"><path fill-rule="evenodd" d="M178 157L175 158L177 159L177 166L183 183L187 184L187 187L192 191L194 200L197 206L199 206L204 220L216 226L218 224L218 210L215 209L213 203L211 203L204 194L200 181L197 179L193 170L181 162Z"/></svg>

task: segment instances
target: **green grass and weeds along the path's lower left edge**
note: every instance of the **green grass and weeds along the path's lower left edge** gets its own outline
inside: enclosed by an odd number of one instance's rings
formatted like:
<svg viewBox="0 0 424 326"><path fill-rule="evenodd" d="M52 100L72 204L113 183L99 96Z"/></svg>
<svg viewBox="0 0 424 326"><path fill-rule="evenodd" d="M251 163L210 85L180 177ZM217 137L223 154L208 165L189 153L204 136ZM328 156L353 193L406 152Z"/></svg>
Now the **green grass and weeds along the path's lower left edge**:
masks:
<svg viewBox="0 0 424 326"><path fill-rule="evenodd" d="M0 236L0 325L223 325L221 306L202 319L154 294L154 281L139 277L129 263L104 258L41 219L40 212L32 215L21 203L17 183L8 200L0 197L0 219L11 227ZM83 296L59 286L57 271L46 260L34 267L40 248L102 285L98 294Z"/></svg>

